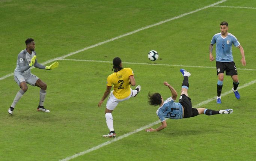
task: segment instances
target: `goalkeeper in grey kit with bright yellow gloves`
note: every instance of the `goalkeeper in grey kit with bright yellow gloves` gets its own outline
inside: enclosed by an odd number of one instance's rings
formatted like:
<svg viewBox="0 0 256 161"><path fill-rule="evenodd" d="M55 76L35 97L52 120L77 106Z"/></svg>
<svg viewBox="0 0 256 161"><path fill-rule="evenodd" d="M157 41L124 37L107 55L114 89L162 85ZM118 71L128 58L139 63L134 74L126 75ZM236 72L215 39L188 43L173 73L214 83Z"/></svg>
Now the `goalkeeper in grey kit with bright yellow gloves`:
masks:
<svg viewBox="0 0 256 161"><path fill-rule="evenodd" d="M27 84L30 84L31 86L40 87L40 94L39 94L40 99L39 99L39 105L37 110L50 112L50 110L47 110L44 108L44 100L46 95L47 84L45 84L36 75L31 74L30 68L32 66L35 66L36 68L39 68L39 69L51 70L58 67L59 63L54 62L50 66L44 66L39 64L36 60L34 40L29 38L25 41L25 43L26 43L26 49L22 50L18 54L17 65L14 70L14 80L20 86L20 90L17 92L11 107L8 109L8 113L9 114L13 113L15 105L28 89Z"/></svg>

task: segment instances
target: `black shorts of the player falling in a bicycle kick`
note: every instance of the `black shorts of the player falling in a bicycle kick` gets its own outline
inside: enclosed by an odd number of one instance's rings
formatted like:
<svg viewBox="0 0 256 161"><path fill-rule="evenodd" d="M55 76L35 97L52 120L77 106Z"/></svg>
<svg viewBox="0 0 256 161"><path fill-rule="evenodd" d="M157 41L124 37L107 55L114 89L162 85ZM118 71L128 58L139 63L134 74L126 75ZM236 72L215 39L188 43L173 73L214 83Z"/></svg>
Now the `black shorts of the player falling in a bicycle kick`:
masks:
<svg viewBox="0 0 256 161"><path fill-rule="evenodd" d="M188 96L186 96L184 94L181 95L181 97L179 99L179 103L184 108L183 118L194 117L199 114L198 110L196 108L192 108L191 99Z"/></svg>

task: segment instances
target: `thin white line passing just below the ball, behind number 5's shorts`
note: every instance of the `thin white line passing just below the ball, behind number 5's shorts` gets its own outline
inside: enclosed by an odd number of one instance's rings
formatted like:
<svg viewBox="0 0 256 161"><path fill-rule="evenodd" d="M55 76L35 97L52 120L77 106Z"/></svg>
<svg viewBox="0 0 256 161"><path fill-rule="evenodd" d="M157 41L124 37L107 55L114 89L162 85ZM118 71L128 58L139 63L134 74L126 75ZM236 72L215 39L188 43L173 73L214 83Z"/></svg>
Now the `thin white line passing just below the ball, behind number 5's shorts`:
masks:
<svg viewBox="0 0 256 161"><path fill-rule="evenodd" d="M78 62L98 62L98 63L113 63L110 61L101 61L101 60L81 60L81 59L62 59L69 61L78 61ZM172 65L172 64L151 64L151 63L134 63L134 62L123 62L123 64L137 64L137 65L156 65L156 66L180 66L180 67L192 67L192 68L212 68L216 69L213 66L193 66L193 65ZM246 68L237 68L239 70L245 71L256 71L256 69L246 69Z"/></svg>

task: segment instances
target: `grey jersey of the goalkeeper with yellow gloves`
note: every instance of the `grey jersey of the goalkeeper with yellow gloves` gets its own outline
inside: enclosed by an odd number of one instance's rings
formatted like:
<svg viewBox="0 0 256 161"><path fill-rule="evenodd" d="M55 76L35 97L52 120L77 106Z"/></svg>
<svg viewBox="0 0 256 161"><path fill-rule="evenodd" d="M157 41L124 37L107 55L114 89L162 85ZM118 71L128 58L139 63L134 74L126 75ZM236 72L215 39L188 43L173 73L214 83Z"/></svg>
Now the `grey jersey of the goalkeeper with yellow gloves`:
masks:
<svg viewBox="0 0 256 161"><path fill-rule="evenodd" d="M17 59L16 68L14 72L22 73L22 74L31 73L29 63L31 62L32 57L35 55L36 55L35 51L32 51L32 54L29 54L26 49L22 50L18 54L18 59ZM39 69L45 69L45 66L39 64L37 60L35 61L34 66Z"/></svg>

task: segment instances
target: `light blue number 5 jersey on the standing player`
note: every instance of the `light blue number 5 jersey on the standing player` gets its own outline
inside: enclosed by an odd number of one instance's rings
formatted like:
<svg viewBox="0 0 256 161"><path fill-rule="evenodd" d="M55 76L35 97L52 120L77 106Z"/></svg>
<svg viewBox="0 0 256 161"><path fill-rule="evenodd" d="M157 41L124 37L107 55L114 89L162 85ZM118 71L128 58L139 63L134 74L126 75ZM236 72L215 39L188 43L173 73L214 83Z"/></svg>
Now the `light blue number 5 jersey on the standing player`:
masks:
<svg viewBox="0 0 256 161"><path fill-rule="evenodd" d="M233 62L232 44L235 47L240 45L239 41L234 35L228 33L225 38L221 33L217 33L212 37L211 44L216 43L216 62Z"/></svg>

